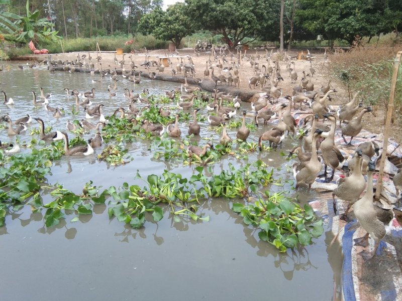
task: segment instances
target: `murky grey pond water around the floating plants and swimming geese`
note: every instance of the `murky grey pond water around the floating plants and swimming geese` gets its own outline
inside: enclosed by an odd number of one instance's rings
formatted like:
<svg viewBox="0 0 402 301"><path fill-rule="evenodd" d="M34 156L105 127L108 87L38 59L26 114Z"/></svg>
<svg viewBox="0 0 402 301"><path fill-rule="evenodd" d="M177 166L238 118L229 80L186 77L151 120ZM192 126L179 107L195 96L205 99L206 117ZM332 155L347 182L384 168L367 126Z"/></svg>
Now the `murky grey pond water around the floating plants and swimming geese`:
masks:
<svg viewBox="0 0 402 301"><path fill-rule="evenodd" d="M45 125L63 131L67 119L85 118L83 111L78 115L71 114L74 99L66 96L63 91L66 87L80 91L94 87L95 102L105 105L104 114L108 116L119 106L127 107L123 88L133 88L135 92L148 88L151 94L161 94L177 86L176 83L142 79L141 84L134 87L121 79L118 96L111 99L107 91L111 83L109 78L92 83L91 79L98 77L68 72L51 74L42 67L20 70L14 63L9 66L10 70L0 73L1 89L14 99L15 105L7 107L2 101L0 115L9 112L16 120L30 112L33 117L41 117ZM40 87L44 87L45 93L52 94L51 106L65 109L65 116L56 119L43 107L33 108L30 91L34 90L39 99ZM250 104L242 103L243 109L251 112ZM206 115L207 111L202 109L200 113ZM235 118L240 119L241 114ZM251 120L251 117L247 118L248 122ZM212 137L218 143L220 134L208 129L208 121L200 124L200 135ZM31 140L32 127L38 127L35 120L27 133L21 135L20 144ZM188 122L180 127L184 136ZM260 133L268 128L260 126L251 132L248 140L257 142ZM228 129L232 138L236 131ZM93 131L83 135L85 139L91 136ZM69 133L69 137L74 134ZM14 141L16 137L9 137L6 130L0 130L0 139ZM142 187L144 182L134 179L137 170L143 178L150 174L160 175L165 169L183 177L193 174L194 167L183 166L177 160L153 159L150 143L139 139L127 145L133 161L119 167L97 161L96 155L62 158L51 168L48 182L58 182L64 188L80 193L90 180L104 188L119 187L124 182ZM248 162L260 159L274 168L275 178L291 180L287 167L292 162L284 160L280 153L288 153L288 149L297 143L288 137L277 150L249 155ZM102 147L95 149L95 154L101 151ZM222 158L213 166L214 173L227 169L229 163L235 167L244 165L243 160ZM283 187L268 188L289 191L290 197L296 197L288 183ZM314 192L303 190L297 194L302 204L317 197ZM110 220L107 205L95 205L93 214L79 216L78 222L70 222L72 217L66 215L56 227L47 228L44 213L32 213L30 206L25 206L9 215L6 226L0 228L2 299L339 298L342 254L339 245L328 246L333 238L328 224L325 233L314 239L312 245L279 253L272 245L259 240L258 231L247 227L242 217L232 211L231 204L219 199L201 203L200 210L211 217L209 222L195 222L190 218L175 222L166 211L161 221L147 220L141 229L132 229L117 219Z"/></svg>

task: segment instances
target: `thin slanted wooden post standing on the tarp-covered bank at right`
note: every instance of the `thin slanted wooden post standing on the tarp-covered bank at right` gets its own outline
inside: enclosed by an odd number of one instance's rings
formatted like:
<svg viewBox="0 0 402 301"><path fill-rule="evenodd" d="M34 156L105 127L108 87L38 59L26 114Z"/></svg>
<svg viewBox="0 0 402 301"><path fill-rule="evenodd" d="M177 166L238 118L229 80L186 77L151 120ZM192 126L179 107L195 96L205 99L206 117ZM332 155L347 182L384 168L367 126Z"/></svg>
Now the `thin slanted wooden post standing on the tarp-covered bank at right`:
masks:
<svg viewBox="0 0 402 301"><path fill-rule="evenodd" d="M395 88L396 88L396 80L398 78L398 71L400 65L400 58L402 56L402 51L398 51L396 54L395 60L393 61L393 74L391 80L391 91L389 93L389 102L388 102L388 109L386 112L386 119L385 119L385 132L384 132L384 141L382 143L382 154L381 154L381 161L380 161L380 170L378 173L378 183L375 190L375 200L379 200L380 193L382 190L382 177L384 175L384 165L386 159L386 151L388 148L388 137L389 137L389 127L391 125L391 117L393 111L393 99L395 97Z"/></svg>

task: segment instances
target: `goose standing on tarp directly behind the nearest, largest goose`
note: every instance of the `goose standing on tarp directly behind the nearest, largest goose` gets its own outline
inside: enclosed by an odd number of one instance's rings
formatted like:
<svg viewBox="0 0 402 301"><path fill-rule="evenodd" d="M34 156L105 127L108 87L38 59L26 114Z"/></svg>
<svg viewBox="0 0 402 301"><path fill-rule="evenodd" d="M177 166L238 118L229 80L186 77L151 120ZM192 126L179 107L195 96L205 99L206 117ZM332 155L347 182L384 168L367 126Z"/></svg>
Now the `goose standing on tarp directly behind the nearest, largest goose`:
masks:
<svg viewBox="0 0 402 301"><path fill-rule="evenodd" d="M354 173L346 178L340 178L338 187L334 189L332 192L332 199L334 205L334 212L336 214L336 201L335 196L339 199L348 201L348 207L346 212L343 214L341 219L346 219L346 214L349 212L350 207L357 201L360 197L360 194L363 192L364 188L366 187L366 180L361 173L361 159L362 159L362 151L361 149L357 148L355 152L356 161L354 166Z"/></svg>

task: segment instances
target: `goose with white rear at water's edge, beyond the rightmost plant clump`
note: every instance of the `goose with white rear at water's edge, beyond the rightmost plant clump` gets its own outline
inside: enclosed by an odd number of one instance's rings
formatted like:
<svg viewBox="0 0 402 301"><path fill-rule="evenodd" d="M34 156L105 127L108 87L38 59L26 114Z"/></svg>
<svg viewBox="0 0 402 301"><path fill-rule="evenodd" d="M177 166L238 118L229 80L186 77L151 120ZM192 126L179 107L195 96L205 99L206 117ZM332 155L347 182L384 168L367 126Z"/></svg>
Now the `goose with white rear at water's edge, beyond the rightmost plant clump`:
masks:
<svg viewBox="0 0 402 301"><path fill-rule="evenodd" d="M321 134L320 129L316 129L313 134L313 145L316 145L316 141ZM314 149L312 152L312 156L310 161L304 163L294 163L292 165L293 169L293 177L296 180L297 190L300 187L300 184L305 184L309 186L309 190L311 189L312 184L316 181L318 173L322 169L322 164L318 160L317 149Z"/></svg>

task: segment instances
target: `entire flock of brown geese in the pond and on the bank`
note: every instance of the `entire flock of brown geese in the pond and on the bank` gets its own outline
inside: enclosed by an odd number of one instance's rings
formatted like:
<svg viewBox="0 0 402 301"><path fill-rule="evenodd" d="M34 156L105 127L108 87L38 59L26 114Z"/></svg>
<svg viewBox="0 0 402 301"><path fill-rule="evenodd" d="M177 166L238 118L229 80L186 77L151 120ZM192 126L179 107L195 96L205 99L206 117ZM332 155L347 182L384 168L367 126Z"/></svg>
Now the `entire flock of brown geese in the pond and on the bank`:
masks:
<svg viewBox="0 0 402 301"><path fill-rule="evenodd" d="M270 148L264 145L264 141L268 141L269 147L281 147L284 140L294 139L297 132L303 131L305 136L303 140L300 140L302 142L296 145L289 154L289 156L296 154L296 158L299 160L299 162L292 165L292 172L296 182L295 188L296 190L304 188L310 190L317 179L324 178L324 182L329 183L334 180L337 171L342 174L338 180L337 188L333 191L334 212L338 212L337 199L343 200L348 204L346 212L342 215L344 219L348 218L347 213L353 206L354 215L360 225L375 240L373 252L370 254L363 253L364 258L370 258L375 254L375 249L378 247L379 241L384 237L390 221L395 215L400 215L400 212L396 209L385 210L372 202L373 162L379 156L379 146L375 141L365 141L359 145L353 143L353 138L358 136L362 130L362 118L366 113L372 112L371 107L364 106L363 101L357 101L358 91L348 103L340 105L337 111L332 110L330 102L337 90L330 85L330 81L320 89L314 89L312 79L307 78L313 78L316 73L312 61L310 61L310 73L306 74L303 71L303 77L300 79L297 72L302 67L296 65L296 62L291 61L288 56L284 56L284 59L279 61L274 59L271 51L269 55L267 52L265 57L247 57L247 61L250 62L255 72L255 75L248 80L248 86L251 90L255 89L257 92L258 89L260 93L264 93L259 100L251 104L250 108L240 100L238 90L235 88L240 83L241 65L240 60L236 60L234 55L231 56L231 61L228 60L230 55L223 53L210 56L210 59L207 60L203 80L212 81L212 87L214 88L212 94L200 91L199 86L187 84L187 77L197 75L197 68L195 68L190 56L177 58L175 68L173 68L170 58L168 66L165 66L161 62L150 60L150 56L146 56L145 61L139 64L144 70L137 72L137 78L136 68L138 67L132 56L129 56L130 62L126 62L124 56L121 61L117 60L115 56L115 67L109 69L102 68L102 63L100 63L102 58L97 57L95 60L97 61L98 69L96 70L95 63L89 53L88 56L78 55L77 57L78 59L75 61L54 61L49 57L45 64L52 72L55 69L74 72L84 67L92 76L95 76L95 74L100 76L99 80L91 80L93 85L97 85L98 81L108 81L107 76L113 73L113 76L110 77L113 85L108 85L108 89L103 91L103 93L108 93L109 99L114 99L108 105L110 109L114 110L113 115L119 114L120 118L127 118L133 124L139 124L140 130L150 136L166 135L177 138L179 142L184 135L199 136L203 135L204 131L211 130L210 127L222 127L219 139L220 144L225 146L233 143L240 144L239 141L254 139L254 137L250 136L250 126L247 127L246 121L246 117L252 117L252 124L263 130L258 136L258 149L260 152L265 152ZM186 63L185 60L188 60L188 62ZM126 71L126 65L130 68L129 71ZM292 95L282 95L283 88L280 88L281 82L283 82L280 74L281 65L285 65L286 71L289 73L289 80L287 81L290 84L295 84ZM120 70L117 71L117 66L122 68L122 73L120 73ZM150 68L156 68L155 70L158 73L163 73L164 69L168 67L172 68L174 76L184 75L184 83L179 88L164 93L164 99L168 99L168 103L156 103L155 96L150 95L148 88L145 87L141 87L142 91L140 93L134 93L134 89L130 85L140 84L141 73L148 73L149 78L152 79L155 78L156 72L149 71ZM200 66L199 68L204 67ZM119 74L121 74L121 77ZM298 79L299 82L297 82ZM123 81L125 83L122 83ZM231 86L233 83L235 85L232 91L237 95L224 93L220 90L220 87L224 85ZM118 86L121 85L130 87L119 88ZM116 92L119 89L121 93ZM39 126L40 139L45 141L64 140L64 156L91 156L95 153L94 148L104 144L102 129L108 124L108 118L110 117L104 115L105 104L97 100L97 88L91 87L86 92L79 89L64 88L65 94L63 91L51 91L53 95L63 93L64 97L74 98L74 104L72 105L75 106L77 118L80 121L72 122L67 120L65 129L60 127L50 132L46 132L42 118L34 117L34 108L40 109L43 106L44 110L50 112L55 119L65 114L64 109L52 106L52 94L45 93L43 87L40 88L41 100L37 100L35 91L30 90L28 92L31 92L33 96L32 112L13 121L17 118L17 116L13 115L13 107L19 104L13 98L8 97L5 90L2 91L4 96L3 106L6 108L7 113L0 116L0 122L8 126L7 134L9 136L26 132L27 126L30 126L32 120L35 120ZM224 106L224 102L227 106ZM116 104L116 107L111 107L114 104ZM298 104L298 109L295 108L296 104ZM67 105L71 106L71 104L66 103ZM160 106L158 107L160 116L171 120L169 124L153 123L144 117L145 113L156 105ZM197 120L200 110L203 110L206 114L208 128L205 128L206 125ZM184 125L180 124L180 112L182 111L192 116L192 120ZM239 112L242 112L242 114ZM231 119L240 118L240 116L242 120L241 126L236 132L235 139L234 136L230 136L231 133L228 132L227 126ZM303 118L299 118L300 116L303 116ZM91 122L90 120L92 119L96 120L96 122ZM71 147L65 130L75 131L78 128L88 131L95 130L96 132L87 139L85 145ZM341 152L335 139L337 132L341 133L346 147L354 149L353 157L344 155ZM349 141L347 141L346 137L350 137ZM6 153L15 154L20 151L20 147L16 143L1 144L0 142L0 145L2 145L2 149L5 149ZM208 155L210 149L213 148L213 142L209 141L204 145L189 145L187 153L189 157L192 155L203 157ZM329 177L328 167L331 168ZM324 173L320 175L323 168ZM364 177L365 174L367 175L367 180ZM399 197L399 191L402 189L401 169L394 176L393 183L397 197ZM365 189L366 193L363 197L360 197ZM366 240L366 238L362 239L359 244L366 245Z"/></svg>

